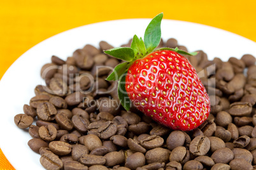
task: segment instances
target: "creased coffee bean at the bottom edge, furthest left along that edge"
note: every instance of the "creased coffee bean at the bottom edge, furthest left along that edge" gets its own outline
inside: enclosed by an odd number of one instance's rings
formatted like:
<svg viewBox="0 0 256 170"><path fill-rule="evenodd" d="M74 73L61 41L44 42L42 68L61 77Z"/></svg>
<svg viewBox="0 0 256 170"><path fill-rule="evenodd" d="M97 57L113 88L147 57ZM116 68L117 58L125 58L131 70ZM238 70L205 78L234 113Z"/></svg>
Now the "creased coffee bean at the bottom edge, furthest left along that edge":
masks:
<svg viewBox="0 0 256 170"><path fill-rule="evenodd" d="M63 167L62 161L59 159L59 157L52 152L45 152L40 157L40 163L45 169L56 169L60 170Z"/></svg>

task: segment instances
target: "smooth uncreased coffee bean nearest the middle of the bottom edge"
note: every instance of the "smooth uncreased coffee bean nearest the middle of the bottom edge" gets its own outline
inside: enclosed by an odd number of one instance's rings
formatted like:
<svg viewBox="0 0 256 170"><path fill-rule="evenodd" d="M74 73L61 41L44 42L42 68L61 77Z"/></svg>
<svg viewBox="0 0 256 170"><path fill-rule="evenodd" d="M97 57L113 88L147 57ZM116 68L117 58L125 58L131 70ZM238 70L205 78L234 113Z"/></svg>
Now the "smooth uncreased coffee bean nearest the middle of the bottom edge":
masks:
<svg viewBox="0 0 256 170"><path fill-rule="evenodd" d="M145 165L145 155L141 154L140 152L136 152L132 155L129 155L125 160L125 167L130 169L136 169L137 167L141 167Z"/></svg>

